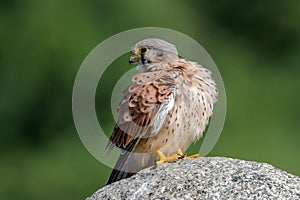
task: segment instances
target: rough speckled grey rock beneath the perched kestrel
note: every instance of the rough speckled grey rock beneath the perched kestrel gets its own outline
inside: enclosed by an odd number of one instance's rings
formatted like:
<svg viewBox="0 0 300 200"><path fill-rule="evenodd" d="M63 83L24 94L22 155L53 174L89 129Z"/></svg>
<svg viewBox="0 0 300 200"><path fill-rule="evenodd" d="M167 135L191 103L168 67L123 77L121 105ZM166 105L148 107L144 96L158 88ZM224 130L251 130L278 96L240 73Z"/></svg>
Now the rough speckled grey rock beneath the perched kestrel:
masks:
<svg viewBox="0 0 300 200"><path fill-rule="evenodd" d="M266 163L183 159L142 170L88 199L300 199L300 177Z"/></svg>

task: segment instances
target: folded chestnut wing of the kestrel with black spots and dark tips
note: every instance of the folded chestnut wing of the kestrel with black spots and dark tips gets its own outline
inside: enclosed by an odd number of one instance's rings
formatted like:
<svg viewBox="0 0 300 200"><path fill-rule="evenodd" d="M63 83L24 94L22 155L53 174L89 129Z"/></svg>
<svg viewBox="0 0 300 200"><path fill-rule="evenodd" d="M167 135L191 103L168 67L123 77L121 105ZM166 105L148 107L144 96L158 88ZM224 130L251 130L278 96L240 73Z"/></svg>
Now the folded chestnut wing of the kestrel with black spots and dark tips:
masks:
<svg viewBox="0 0 300 200"><path fill-rule="evenodd" d="M140 138L155 135L161 129L174 105L175 81L172 73L150 71L133 77L132 85L123 93L118 107L119 119L115 125L108 149L126 147Z"/></svg>

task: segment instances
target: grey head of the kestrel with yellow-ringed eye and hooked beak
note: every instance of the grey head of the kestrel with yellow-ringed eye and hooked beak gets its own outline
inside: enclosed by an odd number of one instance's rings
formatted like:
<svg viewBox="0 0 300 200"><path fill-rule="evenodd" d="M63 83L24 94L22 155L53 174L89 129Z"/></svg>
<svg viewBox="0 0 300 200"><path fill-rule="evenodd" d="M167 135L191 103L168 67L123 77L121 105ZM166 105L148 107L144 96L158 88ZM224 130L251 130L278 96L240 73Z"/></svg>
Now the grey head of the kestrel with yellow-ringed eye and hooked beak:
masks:
<svg viewBox="0 0 300 200"><path fill-rule="evenodd" d="M173 44L157 38L148 38L132 47L129 63L138 62L140 65L147 66L177 58L178 52Z"/></svg>

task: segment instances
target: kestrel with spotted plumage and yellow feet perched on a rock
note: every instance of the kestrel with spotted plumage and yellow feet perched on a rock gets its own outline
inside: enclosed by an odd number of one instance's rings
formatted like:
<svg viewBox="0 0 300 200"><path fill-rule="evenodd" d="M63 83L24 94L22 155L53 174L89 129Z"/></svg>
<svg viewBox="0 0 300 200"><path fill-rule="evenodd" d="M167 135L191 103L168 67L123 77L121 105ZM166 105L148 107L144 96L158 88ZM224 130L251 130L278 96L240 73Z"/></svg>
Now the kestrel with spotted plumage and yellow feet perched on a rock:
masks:
<svg viewBox="0 0 300 200"><path fill-rule="evenodd" d="M123 92L106 147L121 150L107 185L153 165L198 157L183 152L202 137L218 98L211 71L180 57L165 40L137 42L129 63L137 63L138 73Z"/></svg>

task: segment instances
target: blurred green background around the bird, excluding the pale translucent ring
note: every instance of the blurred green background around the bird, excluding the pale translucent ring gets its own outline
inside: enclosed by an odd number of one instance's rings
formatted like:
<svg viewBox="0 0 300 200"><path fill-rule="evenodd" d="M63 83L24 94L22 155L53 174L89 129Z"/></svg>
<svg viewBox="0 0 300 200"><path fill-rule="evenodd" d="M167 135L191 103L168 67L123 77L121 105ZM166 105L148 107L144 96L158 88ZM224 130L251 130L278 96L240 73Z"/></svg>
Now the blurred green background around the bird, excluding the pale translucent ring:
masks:
<svg viewBox="0 0 300 200"><path fill-rule="evenodd" d="M189 35L219 67L227 118L208 156L300 175L300 1L0 2L0 199L85 199L105 183L111 169L87 152L73 124L73 81L101 41L144 26ZM127 56L111 69L96 98L108 134L111 74L130 69Z"/></svg>

